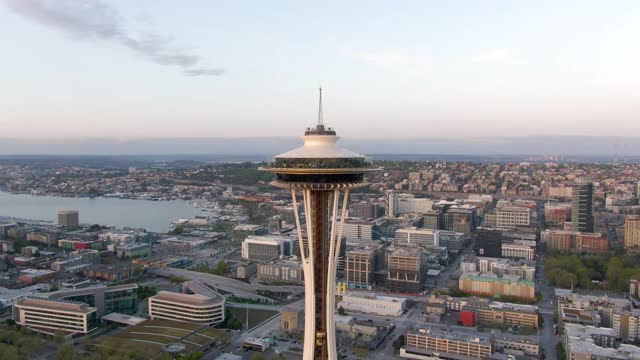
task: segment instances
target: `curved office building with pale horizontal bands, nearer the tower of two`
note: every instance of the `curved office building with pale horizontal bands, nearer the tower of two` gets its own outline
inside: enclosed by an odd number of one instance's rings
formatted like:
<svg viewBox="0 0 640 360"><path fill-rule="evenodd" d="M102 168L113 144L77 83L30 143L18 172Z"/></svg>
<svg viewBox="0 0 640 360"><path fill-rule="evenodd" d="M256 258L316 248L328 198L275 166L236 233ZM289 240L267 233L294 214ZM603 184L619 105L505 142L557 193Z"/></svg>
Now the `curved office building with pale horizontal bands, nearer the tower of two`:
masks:
<svg viewBox="0 0 640 360"><path fill-rule="evenodd" d="M160 291L149 298L149 318L217 325L224 321L225 299L197 281L182 285L183 293Z"/></svg>

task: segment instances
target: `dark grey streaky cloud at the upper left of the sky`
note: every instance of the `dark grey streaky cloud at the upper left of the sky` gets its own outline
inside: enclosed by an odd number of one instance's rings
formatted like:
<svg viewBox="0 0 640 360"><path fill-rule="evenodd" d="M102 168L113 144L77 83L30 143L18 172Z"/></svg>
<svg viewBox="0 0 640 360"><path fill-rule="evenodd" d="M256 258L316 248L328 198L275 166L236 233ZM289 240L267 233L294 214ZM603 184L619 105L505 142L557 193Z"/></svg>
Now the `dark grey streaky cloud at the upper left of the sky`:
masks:
<svg viewBox="0 0 640 360"><path fill-rule="evenodd" d="M114 42L155 64L177 66L188 76L218 76L224 69L199 65L202 59L172 46L157 34L129 34L117 11L99 0L6 0L9 9L75 39Z"/></svg>

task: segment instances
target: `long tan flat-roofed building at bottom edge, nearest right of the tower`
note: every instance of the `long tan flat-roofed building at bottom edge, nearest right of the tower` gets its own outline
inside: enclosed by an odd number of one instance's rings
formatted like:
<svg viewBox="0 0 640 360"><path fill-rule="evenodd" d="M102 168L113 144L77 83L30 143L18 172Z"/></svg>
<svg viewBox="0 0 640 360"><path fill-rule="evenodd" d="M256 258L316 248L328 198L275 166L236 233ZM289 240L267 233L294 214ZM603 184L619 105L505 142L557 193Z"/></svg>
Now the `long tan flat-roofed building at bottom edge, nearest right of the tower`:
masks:
<svg viewBox="0 0 640 360"><path fill-rule="evenodd" d="M400 356L416 359L489 359L493 351L493 342L489 338L431 328L409 331L405 346L400 349Z"/></svg>

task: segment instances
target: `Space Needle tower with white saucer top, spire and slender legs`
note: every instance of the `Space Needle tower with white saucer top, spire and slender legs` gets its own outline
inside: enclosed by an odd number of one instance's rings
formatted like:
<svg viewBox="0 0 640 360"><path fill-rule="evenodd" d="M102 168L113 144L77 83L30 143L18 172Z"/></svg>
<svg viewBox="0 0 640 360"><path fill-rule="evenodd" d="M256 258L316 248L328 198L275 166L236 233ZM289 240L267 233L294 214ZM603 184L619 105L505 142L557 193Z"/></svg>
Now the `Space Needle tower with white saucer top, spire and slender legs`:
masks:
<svg viewBox="0 0 640 360"><path fill-rule="evenodd" d="M318 124L307 128L302 137L304 145L276 155L269 166L262 168L276 175L272 185L291 190L293 198L305 287L303 360L338 359L336 265L349 190L366 186L364 175L379 170L363 155L339 147L338 139L335 130L324 125L320 88ZM306 238L300 226L299 193Z"/></svg>

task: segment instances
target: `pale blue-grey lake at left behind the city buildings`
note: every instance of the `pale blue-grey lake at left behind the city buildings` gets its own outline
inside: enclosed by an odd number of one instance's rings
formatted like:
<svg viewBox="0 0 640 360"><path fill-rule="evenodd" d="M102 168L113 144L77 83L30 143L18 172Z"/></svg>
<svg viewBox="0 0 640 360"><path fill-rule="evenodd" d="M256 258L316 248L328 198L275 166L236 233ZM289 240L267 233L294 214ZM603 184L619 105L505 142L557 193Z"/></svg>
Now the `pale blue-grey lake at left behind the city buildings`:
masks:
<svg viewBox="0 0 640 360"><path fill-rule="evenodd" d="M0 216L58 221L58 211L78 210L80 223L145 228L166 232L171 222L202 214L185 201L67 198L0 191Z"/></svg>

